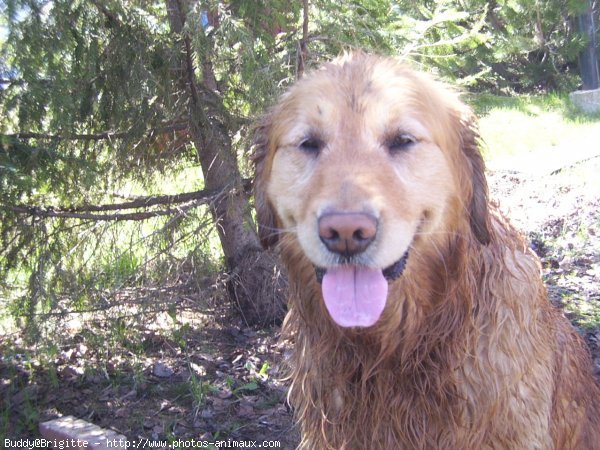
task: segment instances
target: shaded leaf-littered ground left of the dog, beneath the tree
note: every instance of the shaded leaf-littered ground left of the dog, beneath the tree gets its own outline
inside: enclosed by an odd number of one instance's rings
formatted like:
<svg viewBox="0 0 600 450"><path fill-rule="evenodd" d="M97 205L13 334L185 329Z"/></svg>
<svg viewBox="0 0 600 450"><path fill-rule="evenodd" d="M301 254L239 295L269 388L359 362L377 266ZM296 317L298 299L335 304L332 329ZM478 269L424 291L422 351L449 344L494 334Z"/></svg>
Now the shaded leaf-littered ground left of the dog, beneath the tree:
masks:
<svg viewBox="0 0 600 450"><path fill-rule="evenodd" d="M38 422L70 414L132 442L153 441L154 448L177 440L247 441L238 448L267 440L273 448L295 448L279 381L278 330L244 328L224 308L194 305L189 294L193 320L180 315L174 324L160 313L131 330L139 340L115 343L114 353L85 345L83 335L94 331L86 329L50 361L28 359L25 351L4 357L0 421L9 422L7 437L36 437Z"/></svg>

